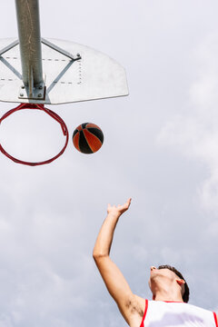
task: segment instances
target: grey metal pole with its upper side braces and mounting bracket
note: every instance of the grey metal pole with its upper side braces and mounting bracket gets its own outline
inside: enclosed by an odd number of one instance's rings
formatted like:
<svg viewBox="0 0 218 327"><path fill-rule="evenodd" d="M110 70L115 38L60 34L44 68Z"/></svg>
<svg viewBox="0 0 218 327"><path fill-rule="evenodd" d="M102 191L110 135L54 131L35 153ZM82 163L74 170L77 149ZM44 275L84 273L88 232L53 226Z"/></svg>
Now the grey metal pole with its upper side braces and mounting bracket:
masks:
<svg viewBox="0 0 218 327"><path fill-rule="evenodd" d="M69 54L44 38L41 39L38 0L15 0L15 5L23 73L23 84L18 97L19 99L45 100L41 43L73 61L81 59L81 56ZM1 53L3 54L15 45L17 43L9 45Z"/></svg>

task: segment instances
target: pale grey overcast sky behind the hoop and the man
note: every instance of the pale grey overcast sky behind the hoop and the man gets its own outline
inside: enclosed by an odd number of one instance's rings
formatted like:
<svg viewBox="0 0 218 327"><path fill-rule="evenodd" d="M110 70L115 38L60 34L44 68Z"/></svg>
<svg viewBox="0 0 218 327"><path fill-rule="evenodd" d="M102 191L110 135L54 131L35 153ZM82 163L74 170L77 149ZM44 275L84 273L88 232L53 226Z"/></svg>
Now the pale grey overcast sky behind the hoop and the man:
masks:
<svg viewBox="0 0 218 327"><path fill-rule="evenodd" d="M0 327L126 325L92 251L107 203L129 196L112 257L133 292L151 299L149 267L169 263L187 280L190 302L218 312L217 1L45 0L40 12L43 37L122 64L130 95L48 106L71 135L98 124L96 154L80 154L70 139L44 166L0 156ZM0 18L1 38L17 37L14 1L1 1ZM13 107L1 103L0 114ZM64 136L45 114L20 112L2 124L1 142L21 159L43 160Z"/></svg>

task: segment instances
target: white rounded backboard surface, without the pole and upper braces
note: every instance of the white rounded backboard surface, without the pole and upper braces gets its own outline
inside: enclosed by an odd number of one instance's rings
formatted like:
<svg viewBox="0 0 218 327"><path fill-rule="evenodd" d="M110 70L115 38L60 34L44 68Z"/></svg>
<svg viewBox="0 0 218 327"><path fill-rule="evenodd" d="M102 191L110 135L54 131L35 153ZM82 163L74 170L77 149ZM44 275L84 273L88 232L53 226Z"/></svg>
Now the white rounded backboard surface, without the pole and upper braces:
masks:
<svg viewBox="0 0 218 327"><path fill-rule="evenodd" d="M0 39L0 51L15 39ZM45 100L22 98L19 45L0 56L0 101L32 104L64 104L128 95L124 68L105 54L73 42L48 39L64 51L81 55L72 60L42 44Z"/></svg>

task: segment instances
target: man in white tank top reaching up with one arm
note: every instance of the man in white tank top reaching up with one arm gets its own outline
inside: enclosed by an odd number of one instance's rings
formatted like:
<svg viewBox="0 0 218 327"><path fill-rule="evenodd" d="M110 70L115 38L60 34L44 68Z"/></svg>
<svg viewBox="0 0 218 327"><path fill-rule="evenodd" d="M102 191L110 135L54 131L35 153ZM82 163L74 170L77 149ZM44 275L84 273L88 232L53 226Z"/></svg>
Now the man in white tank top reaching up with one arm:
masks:
<svg viewBox="0 0 218 327"><path fill-rule="evenodd" d="M109 256L116 223L130 203L131 199L123 205L108 204L107 217L94 245L94 261L124 320L131 327L218 327L214 312L186 303L189 298L187 283L171 266L151 267L149 286L153 301L144 300L131 291Z"/></svg>

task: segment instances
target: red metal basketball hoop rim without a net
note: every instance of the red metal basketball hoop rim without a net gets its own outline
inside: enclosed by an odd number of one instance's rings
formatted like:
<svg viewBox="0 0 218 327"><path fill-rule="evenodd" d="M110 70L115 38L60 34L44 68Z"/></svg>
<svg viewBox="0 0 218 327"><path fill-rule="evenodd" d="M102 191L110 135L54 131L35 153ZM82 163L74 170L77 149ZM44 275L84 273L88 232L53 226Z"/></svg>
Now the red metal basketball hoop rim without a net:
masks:
<svg viewBox="0 0 218 327"><path fill-rule="evenodd" d="M57 159L60 155L64 154L66 145L68 144L68 139L69 139L69 134L68 134L68 130L66 127L66 124L64 123L64 120L58 115L55 114L52 110L45 108L45 106L43 104L20 104L17 107L15 107L14 109L9 110L6 114L4 114L1 118L0 118L0 124L2 123L2 121L7 118L10 114L15 113L16 111L19 110L23 110L23 109L36 109L36 110L43 110L46 114L49 114L52 118L54 118L54 120L59 123L61 125L62 128L62 132L65 136L65 144L63 149L59 152L59 154L56 154L53 158L45 160L43 162L38 162L38 163L29 163L29 162L25 162L19 159L16 159L14 156L12 156L11 154L7 154L7 152L5 151L5 149L3 148L2 144L0 144L0 151L5 154L9 159L13 160L15 163L22 163L22 164L26 164L26 165L30 165L30 166L35 166L35 165L40 165L40 164L45 164L45 163L52 163L55 159Z"/></svg>

